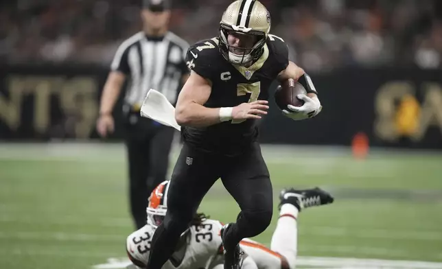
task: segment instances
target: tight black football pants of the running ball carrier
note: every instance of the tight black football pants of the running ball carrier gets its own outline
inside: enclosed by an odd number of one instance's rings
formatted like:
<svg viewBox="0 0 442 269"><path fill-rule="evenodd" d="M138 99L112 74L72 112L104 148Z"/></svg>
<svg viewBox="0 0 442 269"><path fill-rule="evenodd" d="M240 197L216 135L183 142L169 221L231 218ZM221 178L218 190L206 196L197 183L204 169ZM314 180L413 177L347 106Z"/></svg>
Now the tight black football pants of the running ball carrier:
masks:
<svg viewBox="0 0 442 269"><path fill-rule="evenodd" d="M198 152L185 144L172 174L165 220L152 238L149 269L160 269L170 258L181 233L218 178L241 208L237 222L226 235L231 247L267 228L272 219L272 185L259 144L253 143L248 151L235 157Z"/></svg>

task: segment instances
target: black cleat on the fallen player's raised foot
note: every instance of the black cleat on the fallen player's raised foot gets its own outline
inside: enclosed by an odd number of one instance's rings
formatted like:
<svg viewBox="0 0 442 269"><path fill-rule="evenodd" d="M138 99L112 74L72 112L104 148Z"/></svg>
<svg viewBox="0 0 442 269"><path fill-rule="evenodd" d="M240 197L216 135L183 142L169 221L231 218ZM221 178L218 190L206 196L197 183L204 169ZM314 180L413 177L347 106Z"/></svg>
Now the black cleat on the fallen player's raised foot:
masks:
<svg viewBox="0 0 442 269"><path fill-rule="evenodd" d="M318 207L331 204L334 198L331 194L318 187L314 189L283 189L279 194L279 209L283 204L293 204L299 211L307 207Z"/></svg>

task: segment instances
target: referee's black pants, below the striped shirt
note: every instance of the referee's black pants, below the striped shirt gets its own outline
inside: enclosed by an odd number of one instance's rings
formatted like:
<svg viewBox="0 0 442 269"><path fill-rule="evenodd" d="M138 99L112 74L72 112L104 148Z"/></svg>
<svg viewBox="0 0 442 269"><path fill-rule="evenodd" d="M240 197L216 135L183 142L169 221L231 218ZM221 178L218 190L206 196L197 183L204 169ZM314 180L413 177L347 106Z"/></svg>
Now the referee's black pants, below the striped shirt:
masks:
<svg viewBox="0 0 442 269"><path fill-rule="evenodd" d="M137 229L146 225L150 193L166 178L174 128L130 113L125 124L130 211Z"/></svg>

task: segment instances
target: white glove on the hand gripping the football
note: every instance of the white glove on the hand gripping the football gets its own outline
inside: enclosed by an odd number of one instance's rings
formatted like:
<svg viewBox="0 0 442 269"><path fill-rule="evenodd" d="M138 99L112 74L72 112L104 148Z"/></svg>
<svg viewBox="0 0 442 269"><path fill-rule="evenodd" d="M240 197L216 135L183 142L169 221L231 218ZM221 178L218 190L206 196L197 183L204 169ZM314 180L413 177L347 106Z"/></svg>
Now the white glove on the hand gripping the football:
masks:
<svg viewBox="0 0 442 269"><path fill-rule="evenodd" d="M318 97L312 98L308 97L305 94L299 94L297 95L297 97L304 101L303 106L298 107L289 104L287 106L287 110L282 110L283 114L286 115L286 117L290 117L290 119L293 119L295 121L309 119L318 115L323 109L323 106L321 106L321 102L319 102Z"/></svg>

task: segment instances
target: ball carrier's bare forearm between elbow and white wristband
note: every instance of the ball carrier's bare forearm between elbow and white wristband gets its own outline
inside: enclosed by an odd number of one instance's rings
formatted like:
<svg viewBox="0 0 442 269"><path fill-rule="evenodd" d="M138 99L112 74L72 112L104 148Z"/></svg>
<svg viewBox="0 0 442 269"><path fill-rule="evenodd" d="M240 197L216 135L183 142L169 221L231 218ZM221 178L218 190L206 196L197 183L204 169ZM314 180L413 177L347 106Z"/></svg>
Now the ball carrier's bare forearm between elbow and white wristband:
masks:
<svg viewBox="0 0 442 269"><path fill-rule="evenodd" d="M211 126L221 122L220 108L207 108L195 102L189 102L176 106L175 119L181 126Z"/></svg>

